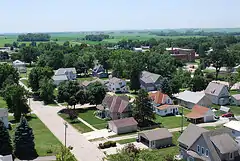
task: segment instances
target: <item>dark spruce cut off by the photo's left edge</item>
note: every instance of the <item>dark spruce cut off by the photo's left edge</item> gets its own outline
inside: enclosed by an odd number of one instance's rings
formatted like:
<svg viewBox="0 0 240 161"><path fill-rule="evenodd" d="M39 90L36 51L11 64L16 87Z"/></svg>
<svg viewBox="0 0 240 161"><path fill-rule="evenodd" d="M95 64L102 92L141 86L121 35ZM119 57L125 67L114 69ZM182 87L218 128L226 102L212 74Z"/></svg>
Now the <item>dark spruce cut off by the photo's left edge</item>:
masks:
<svg viewBox="0 0 240 161"><path fill-rule="evenodd" d="M12 141L7 128L0 120L0 155L12 154Z"/></svg>

